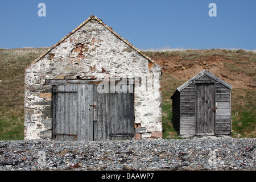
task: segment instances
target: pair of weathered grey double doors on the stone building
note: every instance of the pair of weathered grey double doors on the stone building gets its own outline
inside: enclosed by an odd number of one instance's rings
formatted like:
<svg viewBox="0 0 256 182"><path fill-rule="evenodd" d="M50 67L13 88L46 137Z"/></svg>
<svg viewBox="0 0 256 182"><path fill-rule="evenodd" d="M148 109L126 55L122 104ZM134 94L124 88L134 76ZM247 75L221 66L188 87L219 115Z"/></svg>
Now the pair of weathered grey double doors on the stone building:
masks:
<svg viewBox="0 0 256 182"><path fill-rule="evenodd" d="M97 85L53 85L53 139L134 139L134 94L98 93Z"/></svg>

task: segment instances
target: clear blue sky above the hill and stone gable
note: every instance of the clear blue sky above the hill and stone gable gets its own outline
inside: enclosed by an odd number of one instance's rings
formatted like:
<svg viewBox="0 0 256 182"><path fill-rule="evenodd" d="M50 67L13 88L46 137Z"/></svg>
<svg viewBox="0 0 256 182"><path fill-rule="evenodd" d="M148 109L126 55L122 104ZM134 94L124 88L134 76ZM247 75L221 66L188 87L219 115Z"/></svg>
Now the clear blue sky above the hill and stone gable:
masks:
<svg viewBox="0 0 256 182"><path fill-rule="evenodd" d="M38 16L41 2L46 17ZM51 47L90 15L139 49L256 49L255 0L1 1L0 47Z"/></svg>

